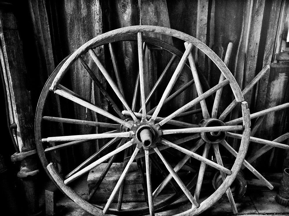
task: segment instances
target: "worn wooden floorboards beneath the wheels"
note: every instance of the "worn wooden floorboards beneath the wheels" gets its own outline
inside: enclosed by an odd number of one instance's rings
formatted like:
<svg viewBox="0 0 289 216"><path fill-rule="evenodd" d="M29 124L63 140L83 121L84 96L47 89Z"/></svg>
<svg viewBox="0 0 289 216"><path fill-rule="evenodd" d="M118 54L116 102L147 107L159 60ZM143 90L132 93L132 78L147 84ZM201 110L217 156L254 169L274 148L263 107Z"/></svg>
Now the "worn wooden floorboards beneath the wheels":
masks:
<svg viewBox="0 0 289 216"><path fill-rule="evenodd" d="M86 183L86 177L80 179L79 184L75 190L81 196L86 197L88 195L88 187ZM284 207L279 205L275 201L275 195L278 189L267 190L265 187L252 187L248 186L245 196L236 201L236 206L238 209L238 215L289 215L289 206ZM204 199L204 198L203 198ZM58 206L62 206L60 215L64 216L89 216L91 214L87 213L69 198L63 197L57 202ZM125 206L124 206L125 207ZM191 207L191 203L187 200L185 196L177 200L167 209L162 212L158 212L156 216L168 216L175 215L177 213L184 212ZM201 216L214 215L214 216L226 216L233 215L231 212L231 206L229 201L222 197L218 203L216 203L212 208L201 214Z"/></svg>

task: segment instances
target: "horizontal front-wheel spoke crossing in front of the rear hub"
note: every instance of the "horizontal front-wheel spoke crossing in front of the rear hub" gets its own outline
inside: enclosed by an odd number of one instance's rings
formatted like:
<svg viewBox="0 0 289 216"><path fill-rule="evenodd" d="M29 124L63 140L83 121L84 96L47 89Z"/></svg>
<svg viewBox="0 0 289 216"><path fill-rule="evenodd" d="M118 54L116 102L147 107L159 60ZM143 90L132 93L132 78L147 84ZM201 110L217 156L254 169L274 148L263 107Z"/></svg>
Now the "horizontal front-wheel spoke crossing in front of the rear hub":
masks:
<svg viewBox="0 0 289 216"><path fill-rule="evenodd" d="M199 132L215 132L215 131L230 131L243 130L242 125L234 126L216 126L216 127L199 127L199 128L182 128L163 130L163 134L179 134L179 133L199 133Z"/></svg>

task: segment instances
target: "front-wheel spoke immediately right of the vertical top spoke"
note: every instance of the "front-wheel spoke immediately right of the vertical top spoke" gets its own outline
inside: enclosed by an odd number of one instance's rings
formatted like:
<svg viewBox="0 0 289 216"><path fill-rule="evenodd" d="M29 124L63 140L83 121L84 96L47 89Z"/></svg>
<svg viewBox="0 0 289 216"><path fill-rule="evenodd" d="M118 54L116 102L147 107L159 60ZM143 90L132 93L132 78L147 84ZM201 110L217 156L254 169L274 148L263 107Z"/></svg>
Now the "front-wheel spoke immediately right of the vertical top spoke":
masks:
<svg viewBox="0 0 289 216"><path fill-rule="evenodd" d="M172 78L170 80L170 82L168 83L168 86L166 87L166 89L164 90L164 93L162 95L162 98L160 99L160 102L157 106L157 108L155 109L153 115L152 115L152 119L155 120L156 117L158 116L158 113L160 112L160 109L162 108L162 105L164 103L164 101L166 100L166 98L168 97L168 94L170 94L175 82L177 81L177 78L179 77L185 63L186 63L186 60L191 52L193 48L193 45L192 44L189 44L189 46L187 47L186 51L184 52L183 56L181 57L181 60L175 70L175 72L173 73L172 75Z"/></svg>

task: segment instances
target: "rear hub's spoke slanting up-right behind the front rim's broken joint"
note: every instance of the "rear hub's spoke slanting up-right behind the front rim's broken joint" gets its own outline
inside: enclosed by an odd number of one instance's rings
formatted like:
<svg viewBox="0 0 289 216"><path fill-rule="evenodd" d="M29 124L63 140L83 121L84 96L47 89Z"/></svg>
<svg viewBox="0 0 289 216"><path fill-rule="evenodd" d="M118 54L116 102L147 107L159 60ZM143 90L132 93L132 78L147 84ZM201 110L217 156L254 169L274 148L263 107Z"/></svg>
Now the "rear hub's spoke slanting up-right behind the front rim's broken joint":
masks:
<svg viewBox="0 0 289 216"><path fill-rule="evenodd" d="M263 67L263 69L257 74L257 76L255 76L254 79L252 79L252 81L246 86L246 88L244 88L244 90L242 91L242 94L245 95L247 94L252 88L253 86L263 77L263 75L266 73L266 71L270 68L269 65L266 65L265 67ZM224 121L224 119L226 118L226 116L234 109L234 107L236 107L236 105L238 104L238 102L236 101L236 99L223 111L223 113L220 115L219 120Z"/></svg>

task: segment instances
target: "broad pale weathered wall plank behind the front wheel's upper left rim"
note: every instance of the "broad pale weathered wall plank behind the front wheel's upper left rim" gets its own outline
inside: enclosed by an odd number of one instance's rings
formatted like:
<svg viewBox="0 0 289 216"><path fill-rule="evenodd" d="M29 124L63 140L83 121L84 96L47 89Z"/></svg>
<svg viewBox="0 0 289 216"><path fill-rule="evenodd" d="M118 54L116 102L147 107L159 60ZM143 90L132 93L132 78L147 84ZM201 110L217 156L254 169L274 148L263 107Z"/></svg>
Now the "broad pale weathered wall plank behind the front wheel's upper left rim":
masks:
<svg viewBox="0 0 289 216"><path fill-rule="evenodd" d="M88 40L96 37L102 32L102 11L99 1L92 0L78 0L78 1L64 1L63 10L59 10L62 14L62 22L65 31L63 40L64 52L66 55L74 52L82 44ZM95 50L100 60L104 63L104 50L103 46ZM83 56L84 60L88 62L89 67L95 72L96 76L101 80L104 86L106 86L105 78L101 76L101 72L96 67L92 59L86 55ZM96 103L101 106L102 109L107 110L108 105L104 98L99 94L99 90L94 86L92 79L88 73L84 70L79 61L75 62L70 69L72 90L77 94L83 96L88 101ZM105 118L96 115L95 112L91 112L86 108L74 104L74 113L76 119L92 120L92 121L105 121ZM101 128L87 126L76 126L76 130L79 134L90 134L101 131ZM85 145L79 147L79 154L81 155L79 160L83 161L88 158L92 152L97 150L98 142L93 141L95 145Z"/></svg>

